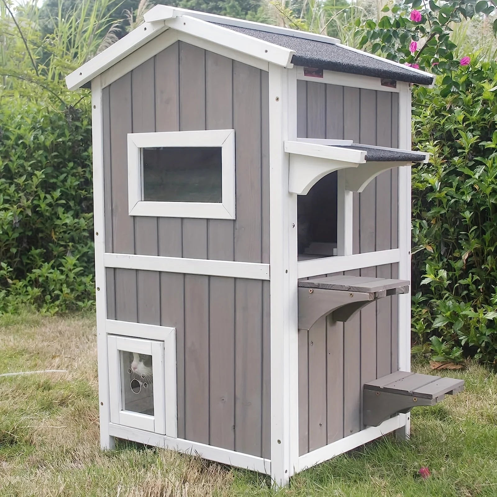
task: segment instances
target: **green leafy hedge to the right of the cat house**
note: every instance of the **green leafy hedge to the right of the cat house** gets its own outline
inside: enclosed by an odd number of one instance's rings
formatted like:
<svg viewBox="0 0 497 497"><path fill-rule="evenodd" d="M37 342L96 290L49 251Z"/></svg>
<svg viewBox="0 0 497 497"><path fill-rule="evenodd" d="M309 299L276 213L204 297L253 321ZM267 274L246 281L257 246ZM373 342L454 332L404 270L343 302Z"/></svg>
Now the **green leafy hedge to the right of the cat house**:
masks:
<svg viewBox="0 0 497 497"><path fill-rule="evenodd" d="M483 62L414 91L413 332L436 360L497 362L496 85Z"/></svg>

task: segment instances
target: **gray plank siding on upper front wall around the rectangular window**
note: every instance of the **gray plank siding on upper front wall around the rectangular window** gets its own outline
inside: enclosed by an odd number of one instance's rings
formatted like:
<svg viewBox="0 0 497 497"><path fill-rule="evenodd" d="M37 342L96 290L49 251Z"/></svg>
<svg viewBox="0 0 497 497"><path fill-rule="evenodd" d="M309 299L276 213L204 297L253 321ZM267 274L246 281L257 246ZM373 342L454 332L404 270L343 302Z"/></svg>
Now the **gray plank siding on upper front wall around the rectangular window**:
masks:
<svg viewBox="0 0 497 497"><path fill-rule="evenodd" d="M202 220L198 242L206 258L268 263L267 95L266 72L183 42L104 88L106 251L186 256L184 232L198 226L198 220L128 215L127 133L234 129L237 219ZM142 226L148 240L136 244ZM220 249L227 245L234 249Z"/></svg>

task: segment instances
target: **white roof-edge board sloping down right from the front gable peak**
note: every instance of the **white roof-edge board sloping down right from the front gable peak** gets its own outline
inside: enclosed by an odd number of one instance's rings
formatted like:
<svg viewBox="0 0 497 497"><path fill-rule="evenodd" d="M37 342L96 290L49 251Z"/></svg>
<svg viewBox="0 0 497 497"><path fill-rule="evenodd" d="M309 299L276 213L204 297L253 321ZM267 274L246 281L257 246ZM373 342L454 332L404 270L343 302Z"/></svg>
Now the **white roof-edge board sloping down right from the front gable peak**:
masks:
<svg viewBox="0 0 497 497"><path fill-rule="evenodd" d="M265 60L270 64L286 68L293 67L291 61L295 54L294 50L259 40L253 36L248 36L190 15L170 17L162 22L165 22L168 27L176 31L214 41L218 45L229 47L238 52L244 52L252 57Z"/></svg>

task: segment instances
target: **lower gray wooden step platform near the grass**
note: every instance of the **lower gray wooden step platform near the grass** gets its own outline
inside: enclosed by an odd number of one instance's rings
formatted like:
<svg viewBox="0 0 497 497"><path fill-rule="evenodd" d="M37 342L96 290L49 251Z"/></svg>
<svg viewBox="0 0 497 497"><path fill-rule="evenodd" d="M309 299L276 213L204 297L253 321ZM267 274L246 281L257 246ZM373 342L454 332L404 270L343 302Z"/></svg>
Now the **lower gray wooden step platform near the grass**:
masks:
<svg viewBox="0 0 497 497"><path fill-rule="evenodd" d="M464 389L464 380L396 371L364 385L362 421L378 426L393 414L434 406Z"/></svg>

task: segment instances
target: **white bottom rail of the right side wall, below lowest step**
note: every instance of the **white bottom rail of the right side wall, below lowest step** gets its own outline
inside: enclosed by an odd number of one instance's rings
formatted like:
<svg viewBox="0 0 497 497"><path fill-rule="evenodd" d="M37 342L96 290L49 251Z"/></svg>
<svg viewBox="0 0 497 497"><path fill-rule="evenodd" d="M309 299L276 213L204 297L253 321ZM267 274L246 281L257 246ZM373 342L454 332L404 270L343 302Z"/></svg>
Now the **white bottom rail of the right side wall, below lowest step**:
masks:
<svg viewBox="0 0 497 497"><path fill-rule="evenodd" d="M324 447L303 454L299 457L299 471L311 468L316 464L328 461L329 459L360 447L376 438L390 433L402 426L402 419L399 415L383 421L379 426L369 426L353 435L346 436L336 442L329 443Z"/></svg>

